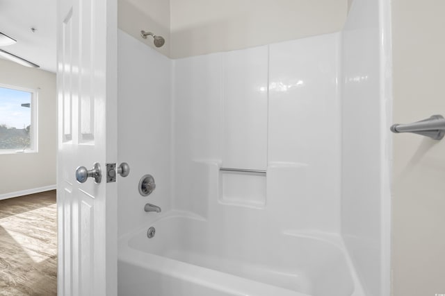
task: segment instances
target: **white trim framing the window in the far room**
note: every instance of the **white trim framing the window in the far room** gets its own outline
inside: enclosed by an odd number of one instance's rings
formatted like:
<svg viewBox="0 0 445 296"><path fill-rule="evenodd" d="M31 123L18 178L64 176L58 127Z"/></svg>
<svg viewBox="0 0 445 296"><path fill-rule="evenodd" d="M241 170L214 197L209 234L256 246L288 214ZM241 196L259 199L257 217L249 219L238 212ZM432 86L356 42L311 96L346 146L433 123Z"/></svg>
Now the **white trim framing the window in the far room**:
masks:
<svg viewBox="0 0 445 296"><path fill-rule="evenodd" d="M24 150L16 149L0 149L0 155L2 154L22 154L22 153L38 153L39 143L38 143L38 89L29 89L26 87L18 87L17 85L4 85L0 83L0 87L7 89L16 89L22 92L31 93L31 148Z"/></svg>

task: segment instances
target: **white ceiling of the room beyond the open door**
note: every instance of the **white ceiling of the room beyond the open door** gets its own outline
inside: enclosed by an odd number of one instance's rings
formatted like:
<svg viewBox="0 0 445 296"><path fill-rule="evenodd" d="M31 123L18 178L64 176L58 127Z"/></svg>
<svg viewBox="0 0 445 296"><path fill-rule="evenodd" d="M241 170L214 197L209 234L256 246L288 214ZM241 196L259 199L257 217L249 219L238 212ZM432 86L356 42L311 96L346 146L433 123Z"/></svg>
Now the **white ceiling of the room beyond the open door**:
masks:
<svg viewBox="0 0 445 296"><path fill-rule="evenodd" d="M0 0L0 32L17 40L0 49L56 72L56 0Z"/></svg>

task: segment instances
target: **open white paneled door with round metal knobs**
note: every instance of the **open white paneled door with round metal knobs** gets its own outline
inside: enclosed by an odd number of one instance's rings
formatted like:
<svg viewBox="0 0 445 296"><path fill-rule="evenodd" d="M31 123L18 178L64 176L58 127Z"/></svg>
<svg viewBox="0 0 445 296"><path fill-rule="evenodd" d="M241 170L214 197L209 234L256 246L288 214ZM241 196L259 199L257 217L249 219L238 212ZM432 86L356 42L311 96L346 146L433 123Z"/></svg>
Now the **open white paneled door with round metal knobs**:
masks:
<svg viewBox="0 0 445 296"><path fill-rule="evenodd" d="M58 295L117 295L115 0L58 0ZM76 182L97 162L102 180Z"/></svg>

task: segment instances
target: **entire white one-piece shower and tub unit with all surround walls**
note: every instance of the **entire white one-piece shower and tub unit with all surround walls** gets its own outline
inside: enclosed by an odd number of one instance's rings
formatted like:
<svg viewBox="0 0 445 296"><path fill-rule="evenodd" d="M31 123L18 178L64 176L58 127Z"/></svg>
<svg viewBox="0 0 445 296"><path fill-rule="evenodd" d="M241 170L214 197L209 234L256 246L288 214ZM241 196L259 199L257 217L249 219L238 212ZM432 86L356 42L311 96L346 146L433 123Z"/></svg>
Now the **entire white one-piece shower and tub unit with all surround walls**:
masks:
<svg viewBox="0 0 445 296"><path fill-rule="evenodd" d="M353 1L341 33L177 60L119 33L119 295L390 295L384 2Z"/></svg>

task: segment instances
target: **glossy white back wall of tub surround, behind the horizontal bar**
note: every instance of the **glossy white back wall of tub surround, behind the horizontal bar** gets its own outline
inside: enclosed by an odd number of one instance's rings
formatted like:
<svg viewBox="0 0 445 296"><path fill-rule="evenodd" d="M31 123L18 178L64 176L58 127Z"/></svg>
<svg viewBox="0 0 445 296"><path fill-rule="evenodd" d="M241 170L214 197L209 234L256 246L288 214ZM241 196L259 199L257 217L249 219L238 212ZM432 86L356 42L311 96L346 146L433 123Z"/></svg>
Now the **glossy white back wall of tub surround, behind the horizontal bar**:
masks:
<svg viewBox="0 0 445 296"><path fill-rule="evenodd" d="M245 235L340 232L338 42L330 34L175 60L175 209Z"/></svg>

